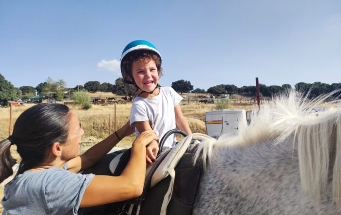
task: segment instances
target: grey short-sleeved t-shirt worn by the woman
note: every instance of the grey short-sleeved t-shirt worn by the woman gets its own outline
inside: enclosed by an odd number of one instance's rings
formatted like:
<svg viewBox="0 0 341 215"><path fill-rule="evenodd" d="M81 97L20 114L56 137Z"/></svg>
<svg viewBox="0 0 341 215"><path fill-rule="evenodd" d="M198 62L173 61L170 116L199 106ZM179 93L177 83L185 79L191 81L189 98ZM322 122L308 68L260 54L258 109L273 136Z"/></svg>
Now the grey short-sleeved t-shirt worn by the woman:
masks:
<svg viewBox="0 0 341 215"><path fill-rule="evenodd" d="M55 167L26 171L5 185L3 215L76 215L94 176Z"/></svg>

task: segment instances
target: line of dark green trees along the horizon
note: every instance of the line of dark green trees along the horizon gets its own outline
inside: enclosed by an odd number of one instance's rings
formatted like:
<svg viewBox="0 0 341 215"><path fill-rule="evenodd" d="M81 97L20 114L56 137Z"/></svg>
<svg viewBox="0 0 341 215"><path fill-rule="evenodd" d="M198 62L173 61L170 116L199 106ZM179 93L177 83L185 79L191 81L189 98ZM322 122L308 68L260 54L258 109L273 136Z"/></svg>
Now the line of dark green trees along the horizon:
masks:
<svg viewBox="0 0 341 215"><path fill-rule="evenodd" d="M209 93L213 95L221 94L251 94L256 95L256 86L242 86L237 87L233 84L219 84L216 86L205 89L196 88L193 89L188 80L177 80L171 83L171 87L178 93ZM304 83L299 82L294 86L296 90L306 93L310 91L309 98L316 98L319 95L332 92L337 89L341 89L341 83L326 84L322 82ZM290 84L283 84L282 86L259 84L260 93L262 96L271 97L284 91L291 89ZM99 81L88 81L84 85L76 85L74 88L67 88L66 82L63 79L54 80L50 77L46 78L44 82L39 83L36 87L33 86L21 86L14 87L11 82L7 81L0 74L0 103L3 105L7 104L7 101L15 100L18 98L28 99L36 96L36 92L39 97L44 98L56 98L61 101L67 97L65 92L77 92L77 91L88 91L93 92L112 92L116 95L124 96L129 100L132 100L135 96L136 88L133 85L126 84L123 78L117 78L115 83ZM338 93L340 95L341 92ZM338 96L336 95L336 96Z"/></svg>

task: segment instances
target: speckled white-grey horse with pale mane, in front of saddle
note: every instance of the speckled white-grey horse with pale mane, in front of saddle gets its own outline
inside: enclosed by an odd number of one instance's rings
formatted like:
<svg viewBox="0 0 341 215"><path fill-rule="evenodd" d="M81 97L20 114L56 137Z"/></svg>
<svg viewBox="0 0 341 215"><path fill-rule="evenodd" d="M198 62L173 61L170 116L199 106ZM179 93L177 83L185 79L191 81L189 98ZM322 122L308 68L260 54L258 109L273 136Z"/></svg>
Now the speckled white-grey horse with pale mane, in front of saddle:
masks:
<svg viewBox="0 0 341 215"><path fill-rule="evenodd" d="M331 95L308 102L290 92L237 137L199 144L208 165L193 214L341 214L341 106L325 102Z"/></svg>

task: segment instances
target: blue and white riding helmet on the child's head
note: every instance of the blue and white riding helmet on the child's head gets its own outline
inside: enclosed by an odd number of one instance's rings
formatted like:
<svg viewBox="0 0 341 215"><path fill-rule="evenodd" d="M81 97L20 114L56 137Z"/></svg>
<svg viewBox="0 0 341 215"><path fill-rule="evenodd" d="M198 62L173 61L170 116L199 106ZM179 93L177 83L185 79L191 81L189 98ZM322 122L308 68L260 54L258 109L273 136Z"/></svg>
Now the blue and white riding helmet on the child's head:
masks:
<svg viewBox="0 0 341 215"><path fill-rule="evenodd" d="M147 40L134 40L133 42L130 42L126 47L123 49L122 55L121 55L121 73L124 82L129 83L129 84L134 84L134 82L130 81L127 79L127 75L131 76L131 74L126 74L125 71L123 70L123 59L126 57L129 53L132 53L137 50L149 50L155 52L159 58L160 58L160 64L161 64L161 55L157 48L149 41ZM133 77L130 77L133 79Z"/></svg>

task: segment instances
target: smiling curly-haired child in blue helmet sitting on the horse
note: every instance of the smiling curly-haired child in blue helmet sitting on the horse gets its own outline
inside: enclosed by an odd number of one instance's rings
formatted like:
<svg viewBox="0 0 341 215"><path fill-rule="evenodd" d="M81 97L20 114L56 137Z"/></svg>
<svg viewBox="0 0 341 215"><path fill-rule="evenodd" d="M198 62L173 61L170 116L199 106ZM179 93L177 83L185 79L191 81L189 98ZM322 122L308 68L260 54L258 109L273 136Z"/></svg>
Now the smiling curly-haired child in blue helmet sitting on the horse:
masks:
<svg viewBox="0 0 341 215"><path fill-rule="evenodd" d="M171 87L158 85L162 76L161 55L151 42L135 40L129 43L122 52L121 72L124 81L137 88L130 115L136 137L152 129L159 139L175 128L191 134L179 105L182 97ZM176 136L173 135L166 140L164 147L171 148L175 142ZM146 159L149 163L156 159L158 149L157 141L148 145Z"/></svg>

